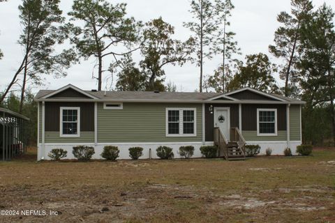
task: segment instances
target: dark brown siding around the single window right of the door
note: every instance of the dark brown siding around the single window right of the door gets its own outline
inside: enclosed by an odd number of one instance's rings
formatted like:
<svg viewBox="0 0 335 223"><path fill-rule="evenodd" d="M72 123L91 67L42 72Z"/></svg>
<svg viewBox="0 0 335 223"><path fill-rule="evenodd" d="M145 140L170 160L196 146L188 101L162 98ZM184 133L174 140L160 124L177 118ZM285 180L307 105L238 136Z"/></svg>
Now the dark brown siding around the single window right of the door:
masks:
<svg viewBox="0 0 335 223"><path fill-rule="evenodd" d="M257 130L257 109L277 109L278 131L286 130L286 105L242 105L242 130Z"/></svg>

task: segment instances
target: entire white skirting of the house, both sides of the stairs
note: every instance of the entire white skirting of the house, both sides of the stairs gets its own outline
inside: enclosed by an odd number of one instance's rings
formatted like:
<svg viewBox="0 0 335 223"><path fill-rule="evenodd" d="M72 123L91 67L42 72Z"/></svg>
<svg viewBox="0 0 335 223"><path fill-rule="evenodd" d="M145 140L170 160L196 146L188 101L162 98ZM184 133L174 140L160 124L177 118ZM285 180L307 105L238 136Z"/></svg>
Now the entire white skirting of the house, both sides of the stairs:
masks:
<svg viewBox="0 0 335 223"><path fill-rule="evenodd" d="M265 154L265 150L267 148L272 149L272 155L283 155L283 151L286 147L288 147L287 141L247 141L247 144L258 144L260 145L260 155ZM205 145L213 145L214 143L212 141L207 141ZM296 148L298 145L301 144L301 141L290 141L289 147L291 148L292 154L295 154ZM202 142L138 142L138 143L104 143L104 144L92 144L92 143L80 143L80 144L45 144L45 149L43 151L42 144L39 144L38 146L38 160L50 160L50 157L47 156L48 153L53 148L63 148L64 150L68 151L68 155L66 159L75 159L75 157L72 154L73 146L79 146L79 145L85 145L85 146L94 146L95 154L92 157L92 159L102 159L101 153L103 152L104 146L118 146L119 147L119 158L120 160L127 160L131 159L129 157L129 151L128 148L134 147L134 146L140 146L143 148L143 155L140 157L140 159L149 159L150 157L152 159L157 159L156 155L156 148L158 146L169 146L173 148L173 153L175 158L179 158L179 147L180 146L194 146L195 151L193 158L199 158L202 157L202 154L200 153L200 146L203 146ZM151 155L150 155L150 148L151 148Z"/></svg>

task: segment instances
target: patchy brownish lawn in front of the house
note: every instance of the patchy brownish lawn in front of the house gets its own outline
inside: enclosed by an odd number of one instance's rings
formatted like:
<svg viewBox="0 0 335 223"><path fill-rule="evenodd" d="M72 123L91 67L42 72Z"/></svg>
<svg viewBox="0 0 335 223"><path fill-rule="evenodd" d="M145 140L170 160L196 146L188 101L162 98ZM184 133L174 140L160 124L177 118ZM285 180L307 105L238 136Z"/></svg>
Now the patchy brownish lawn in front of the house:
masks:
<svg viewBox="0 0 335 223"><path fill-rule="evenodd" d="M332 162L334 161L334 162ZM335 150L246 161L0 162L0 222L335 222Z"/></svg>

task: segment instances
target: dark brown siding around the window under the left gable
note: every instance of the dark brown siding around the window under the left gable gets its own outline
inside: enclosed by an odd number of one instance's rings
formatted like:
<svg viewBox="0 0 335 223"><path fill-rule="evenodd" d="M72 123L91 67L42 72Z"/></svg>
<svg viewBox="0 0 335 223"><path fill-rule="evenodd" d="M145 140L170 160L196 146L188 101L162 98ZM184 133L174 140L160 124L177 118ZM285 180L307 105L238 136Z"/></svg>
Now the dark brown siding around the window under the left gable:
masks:
<svg viewBox="0 0 335 223"><path fill-rule="evenodd" d="M60 107L80 107L80 131L94 131L93 102L45 102L46 132L59 132Z"/></svg>

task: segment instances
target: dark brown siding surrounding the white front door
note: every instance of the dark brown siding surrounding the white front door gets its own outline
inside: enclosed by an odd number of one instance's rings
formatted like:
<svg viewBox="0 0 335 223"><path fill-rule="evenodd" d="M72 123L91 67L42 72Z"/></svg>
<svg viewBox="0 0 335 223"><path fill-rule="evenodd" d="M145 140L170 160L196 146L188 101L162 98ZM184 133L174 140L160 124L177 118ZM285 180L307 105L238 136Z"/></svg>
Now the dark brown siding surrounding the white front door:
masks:
<svg viewBox="0 0 335 223"><path fill-rule="evenodd" d="M211 104L204 106L204 125L205 125L205 140L214 140L214 108L215 107L230 107L230 127L239 127L239 105L238 104L214 104L213 114L209 111Z"/></svg>

